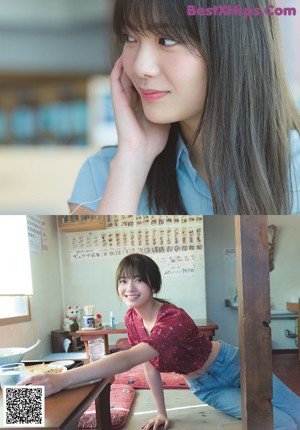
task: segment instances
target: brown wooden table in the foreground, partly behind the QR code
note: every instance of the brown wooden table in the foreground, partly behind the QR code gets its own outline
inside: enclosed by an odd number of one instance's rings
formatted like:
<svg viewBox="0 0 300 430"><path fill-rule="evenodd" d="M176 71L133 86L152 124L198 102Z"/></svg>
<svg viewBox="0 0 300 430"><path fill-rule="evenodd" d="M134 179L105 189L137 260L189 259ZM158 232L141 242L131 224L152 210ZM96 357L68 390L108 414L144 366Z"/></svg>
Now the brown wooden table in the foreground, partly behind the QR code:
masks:
<svg viewBox="0 0 300 430"><path fill-rule="evenodd" d="M45 399L45 427L48 430L76 430L79 419L95 400L97 430L111 430L110 386L114 377L78 388L60 391ZM3 423L3 396L0 389L0 428ZM33 426L16 426L14 429L35 429Z"/></svg>

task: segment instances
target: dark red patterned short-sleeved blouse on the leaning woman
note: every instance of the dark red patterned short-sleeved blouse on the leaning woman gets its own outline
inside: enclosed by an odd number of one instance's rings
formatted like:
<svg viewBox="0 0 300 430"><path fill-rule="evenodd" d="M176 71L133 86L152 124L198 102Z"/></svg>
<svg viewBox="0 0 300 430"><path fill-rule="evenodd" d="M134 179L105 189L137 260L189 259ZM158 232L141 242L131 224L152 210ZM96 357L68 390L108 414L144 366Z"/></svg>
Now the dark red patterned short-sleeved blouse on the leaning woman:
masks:
<svg viewBox="0 0 300 430"><path fill-rule="evenodd" d="M148 336L143 320L135 309L125 315L128 341L131 345L146 342L158 351L150 360L160 372L187 374L200 369L212 349L212 343L181 308L164 303L158 310L154 327Z"/></svg>

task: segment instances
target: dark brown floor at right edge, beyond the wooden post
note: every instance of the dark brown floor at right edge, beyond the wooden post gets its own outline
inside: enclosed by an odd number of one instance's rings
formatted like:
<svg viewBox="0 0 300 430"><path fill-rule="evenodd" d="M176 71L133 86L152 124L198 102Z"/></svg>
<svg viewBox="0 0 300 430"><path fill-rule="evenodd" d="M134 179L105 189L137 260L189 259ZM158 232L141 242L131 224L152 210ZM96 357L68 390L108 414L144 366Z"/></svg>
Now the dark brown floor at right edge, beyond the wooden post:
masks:
<svg viewBox="0 0 300 430"><path fill-rule="evenodd" d="M273 351L273 373L300 396L300 360L298 351Z"/></svg>

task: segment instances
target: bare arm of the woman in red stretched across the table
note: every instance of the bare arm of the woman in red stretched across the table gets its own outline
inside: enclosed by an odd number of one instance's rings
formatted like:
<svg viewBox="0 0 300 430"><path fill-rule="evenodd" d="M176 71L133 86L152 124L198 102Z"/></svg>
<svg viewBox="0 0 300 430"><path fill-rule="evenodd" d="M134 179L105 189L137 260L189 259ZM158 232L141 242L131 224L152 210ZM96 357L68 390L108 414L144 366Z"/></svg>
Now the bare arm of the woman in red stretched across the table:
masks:
<svg viewBox="0 0 300 430"><path fill-rule="evenodd" d="M158 352L146 343L140 343L127 351L116 352L85 366L57 374L34 375L19 385L44 385L45 395L51 396L71 385L105 378L125 372L138 364L157 357Z"/></svg>

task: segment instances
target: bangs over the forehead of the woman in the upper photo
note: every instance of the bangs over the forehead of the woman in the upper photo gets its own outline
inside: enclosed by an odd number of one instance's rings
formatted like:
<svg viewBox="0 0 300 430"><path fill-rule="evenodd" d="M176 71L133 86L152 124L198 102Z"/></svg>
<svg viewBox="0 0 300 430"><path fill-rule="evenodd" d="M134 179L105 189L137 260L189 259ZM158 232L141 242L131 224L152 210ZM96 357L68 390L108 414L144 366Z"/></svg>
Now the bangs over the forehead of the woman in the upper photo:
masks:
<svg viewBox="0 0 300 430"><path fill-rule="evenodd" d="M117 0L113 30L124 44L124 33L147 32L168 37L199 51L199 34L195 19L187 15L187 0Z"/></svg>

